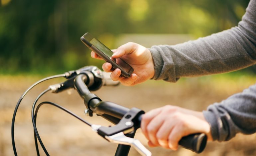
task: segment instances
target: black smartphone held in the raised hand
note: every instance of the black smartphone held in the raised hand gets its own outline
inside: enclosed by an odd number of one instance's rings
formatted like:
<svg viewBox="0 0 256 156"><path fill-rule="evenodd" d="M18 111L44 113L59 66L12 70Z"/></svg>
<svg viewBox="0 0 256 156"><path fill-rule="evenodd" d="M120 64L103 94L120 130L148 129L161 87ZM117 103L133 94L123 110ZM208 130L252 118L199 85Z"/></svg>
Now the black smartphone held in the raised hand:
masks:
<svg viewBox="0 0 256 156"><path fill-rule="evenodd" d="M80 39L88 48L98 54L105 61L111 63L114 69L120 69L123 76L131 76L134 69L121 58L113 58L113 51L102 44L98 39L95 39L90 33L84 34Z"/></svg>

